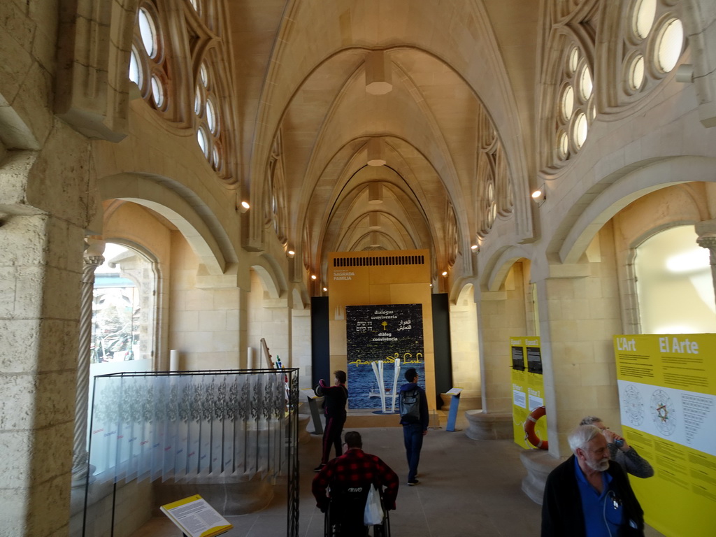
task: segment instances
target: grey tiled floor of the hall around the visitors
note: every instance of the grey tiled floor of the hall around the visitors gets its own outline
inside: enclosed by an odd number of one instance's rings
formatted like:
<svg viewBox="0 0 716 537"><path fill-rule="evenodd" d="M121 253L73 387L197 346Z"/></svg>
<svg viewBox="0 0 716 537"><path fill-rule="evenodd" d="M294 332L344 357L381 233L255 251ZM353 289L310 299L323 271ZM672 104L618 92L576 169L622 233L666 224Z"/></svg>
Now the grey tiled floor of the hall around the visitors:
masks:
<svg viewBox="0 0 716 537"><path fill-rule="evenodd" d="M458 422L458 427L460 423ZM363 428L364 449L379 455L400 476L397 511L390 513L392 535L410 537L532 537L540 532L540 506L520 489L525 470L521 448L509 440L475 442L464 432L430 430L422 448L420 484L405 485L407 465L400 427ZM311 496L313 468L320 458L319 437L301 445L299 535L321 537L323 514ZM285 537L285 487L268 508L228 517L226 537ZM651 528L647 537L661 536ZM166 518L155 518L132 537L181 537Z"/></svg>

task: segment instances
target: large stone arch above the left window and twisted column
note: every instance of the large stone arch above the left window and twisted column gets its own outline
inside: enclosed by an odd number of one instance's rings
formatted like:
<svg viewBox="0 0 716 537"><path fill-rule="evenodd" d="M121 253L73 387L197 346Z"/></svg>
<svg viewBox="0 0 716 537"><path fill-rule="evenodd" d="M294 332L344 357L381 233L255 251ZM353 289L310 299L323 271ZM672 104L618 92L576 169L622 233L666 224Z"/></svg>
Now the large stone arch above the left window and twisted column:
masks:
<svg viewBox="0 0 716 537"><path fill-rule="evenodd" d="M190 203L188 196L170 188L169 183L154 175L122 173L99 180L98 187L102 200L132 201L167 218L186 238L208 274L221 276L235 255L226 255L226 247L223 249L217 239L220 224L208 208L199 211L198 198L191 198Z"/></svg>

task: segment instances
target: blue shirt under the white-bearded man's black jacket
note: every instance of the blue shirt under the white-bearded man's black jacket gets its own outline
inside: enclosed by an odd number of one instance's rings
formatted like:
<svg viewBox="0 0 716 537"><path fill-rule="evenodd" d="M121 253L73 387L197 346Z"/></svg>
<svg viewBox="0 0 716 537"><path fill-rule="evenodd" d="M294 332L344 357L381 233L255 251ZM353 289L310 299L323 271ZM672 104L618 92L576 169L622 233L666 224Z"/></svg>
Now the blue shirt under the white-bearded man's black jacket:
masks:
<svg viewBox="0 0 716 537"><path fill-rule="evenodd" d="M616 537L619 535L624 508L621 499L610 490L611 475L601 472L601 494L589 484L579 468L579 460L574 459L575 474L582 513L584 513L584 529L586 537Z"/></svg>

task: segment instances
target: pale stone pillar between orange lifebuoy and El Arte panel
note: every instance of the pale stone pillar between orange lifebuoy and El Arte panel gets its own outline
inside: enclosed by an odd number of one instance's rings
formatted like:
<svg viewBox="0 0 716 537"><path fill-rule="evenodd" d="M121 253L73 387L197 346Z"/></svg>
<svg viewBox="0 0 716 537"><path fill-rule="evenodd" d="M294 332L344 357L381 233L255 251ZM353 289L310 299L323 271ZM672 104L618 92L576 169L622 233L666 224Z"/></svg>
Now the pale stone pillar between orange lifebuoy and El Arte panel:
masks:
<svg viewBox="0 0 716 537"><path fill-rule="evenodd" d="M601 262L554 264L534 275L540 321L549 453L586 415L619 422L614 334L621 332L613 252ZM543 277L547 276L547 277Z"/></svg>

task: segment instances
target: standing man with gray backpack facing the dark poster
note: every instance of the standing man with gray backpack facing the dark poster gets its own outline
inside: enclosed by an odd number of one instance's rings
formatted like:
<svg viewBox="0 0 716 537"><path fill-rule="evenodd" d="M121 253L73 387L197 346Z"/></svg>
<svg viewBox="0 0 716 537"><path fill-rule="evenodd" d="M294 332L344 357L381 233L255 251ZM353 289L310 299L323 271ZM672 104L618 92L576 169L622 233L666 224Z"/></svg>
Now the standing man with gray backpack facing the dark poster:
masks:
<svg viewBox="0 0 716 537"><path fill-rule="evenodd" d="M411 367L405 372L406 384L400 387L400 425L403 426L405 455L407 455L407 484L417 485L417 465L420 463L422 437L427 435L427 397L417 385L417 371Z"/></svg>

